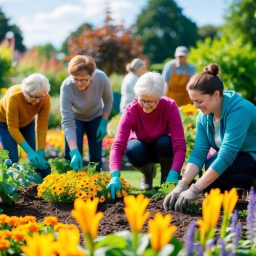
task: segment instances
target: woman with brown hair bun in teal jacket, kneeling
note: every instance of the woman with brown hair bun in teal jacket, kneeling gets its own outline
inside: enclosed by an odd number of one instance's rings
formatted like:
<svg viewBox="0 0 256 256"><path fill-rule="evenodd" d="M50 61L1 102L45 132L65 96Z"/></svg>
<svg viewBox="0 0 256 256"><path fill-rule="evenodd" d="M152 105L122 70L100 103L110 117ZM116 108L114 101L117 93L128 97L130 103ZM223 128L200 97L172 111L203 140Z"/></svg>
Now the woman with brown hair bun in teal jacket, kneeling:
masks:
<svg viewBox="0 0 256 256"><path fill-rule="evenodd" d="M182 180L164 199L164 209L183 211L200 191L221 191L232 187L256 187L256 108L236 92L223 91L211 64L191 77L187 84L190 99L200 109L193 151ZM217 152L207 159L210 147ZM204 175L188 185L205 164ZM176 197L179 197L175 203Z"/></svg>

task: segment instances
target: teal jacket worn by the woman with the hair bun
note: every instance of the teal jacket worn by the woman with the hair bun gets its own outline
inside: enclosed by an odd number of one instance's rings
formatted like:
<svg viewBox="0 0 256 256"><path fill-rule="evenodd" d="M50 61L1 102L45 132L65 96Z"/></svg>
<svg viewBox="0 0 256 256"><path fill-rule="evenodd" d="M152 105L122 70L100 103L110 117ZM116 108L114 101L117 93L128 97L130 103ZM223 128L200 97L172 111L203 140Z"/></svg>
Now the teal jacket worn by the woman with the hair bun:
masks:
<svg viewBox="0 0 256 256"><path fill-rule="evenodd" d="M214 115L199 113L193 151L188 159L201 169L210 147L218 151L217 159L210 165L222 174L239 152L249 153L256 161L256 107L234 91L224 91L219 132L220 149L215 144ZM256 170L255 170L256 173Z"/></svg>

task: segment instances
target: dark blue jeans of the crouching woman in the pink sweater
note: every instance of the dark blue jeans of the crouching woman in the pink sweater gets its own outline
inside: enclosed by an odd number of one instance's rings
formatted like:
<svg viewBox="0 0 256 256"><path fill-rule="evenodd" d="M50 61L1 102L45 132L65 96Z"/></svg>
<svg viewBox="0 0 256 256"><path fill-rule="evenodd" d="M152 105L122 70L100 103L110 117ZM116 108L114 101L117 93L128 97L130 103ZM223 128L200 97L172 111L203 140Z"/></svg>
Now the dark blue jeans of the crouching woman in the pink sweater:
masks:
<svg viewBox="0 0 256 256"><path fill-rule="evenodd" d="M135 167L145 166L148 162L158 163L158 157L169 158L174 156L172 139L163 135L152 144L131 139L127 143L125 155Z"/></svg>

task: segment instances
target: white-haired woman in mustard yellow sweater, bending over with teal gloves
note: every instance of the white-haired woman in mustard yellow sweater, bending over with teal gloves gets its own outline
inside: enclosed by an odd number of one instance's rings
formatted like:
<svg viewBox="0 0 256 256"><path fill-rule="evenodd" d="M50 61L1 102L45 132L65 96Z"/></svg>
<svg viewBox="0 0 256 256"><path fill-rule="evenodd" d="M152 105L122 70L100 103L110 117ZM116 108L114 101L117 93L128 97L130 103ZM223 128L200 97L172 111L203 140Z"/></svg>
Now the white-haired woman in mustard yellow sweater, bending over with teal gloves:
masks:
<svg viewBox="0 0 256 256"><path fill-rule="evenodd" d="M0 141L12 162L18 161L17 144L28 154L32 165L44 178L50 174L45 160L45 143L50 111L50 84L46 76L34 73L22 84L10 87L0 100ZM35 116L37 151L35 151Z"/></svg>

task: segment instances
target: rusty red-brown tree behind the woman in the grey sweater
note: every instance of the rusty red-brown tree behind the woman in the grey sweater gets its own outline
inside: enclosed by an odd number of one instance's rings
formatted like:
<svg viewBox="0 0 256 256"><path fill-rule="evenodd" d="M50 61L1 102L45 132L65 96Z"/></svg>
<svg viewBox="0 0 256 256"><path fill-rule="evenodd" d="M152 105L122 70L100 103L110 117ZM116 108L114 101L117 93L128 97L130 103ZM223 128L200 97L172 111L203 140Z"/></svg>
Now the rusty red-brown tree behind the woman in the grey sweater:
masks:
<svg viewBox="0 0 256 256"><path fill-rule="evenodd" d="M114 71L125 73L127 62L134 58L144 58L143 47L139 37L134 36L134 28L125 29L123 25L112 25L111 21L107 9L101 28L84 28L77 37L71 36L67 60L77 54L90 55L95 59L97 67L110 75Z"/></svg>

